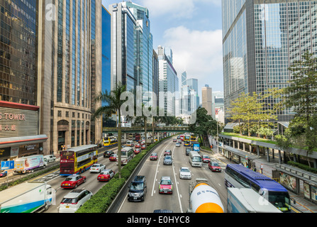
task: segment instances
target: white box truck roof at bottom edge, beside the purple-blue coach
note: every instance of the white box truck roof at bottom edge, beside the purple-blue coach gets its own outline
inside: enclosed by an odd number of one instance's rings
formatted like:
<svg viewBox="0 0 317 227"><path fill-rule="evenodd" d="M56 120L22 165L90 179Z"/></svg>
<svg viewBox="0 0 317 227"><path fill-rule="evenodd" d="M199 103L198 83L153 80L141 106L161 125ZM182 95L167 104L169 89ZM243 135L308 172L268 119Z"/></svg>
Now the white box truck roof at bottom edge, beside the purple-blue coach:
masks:
<svg viewBox="0 0 317 227"><path fill-rule="evenodd" d="M250 188L228 187L227 213L282 213Z"/></svg>

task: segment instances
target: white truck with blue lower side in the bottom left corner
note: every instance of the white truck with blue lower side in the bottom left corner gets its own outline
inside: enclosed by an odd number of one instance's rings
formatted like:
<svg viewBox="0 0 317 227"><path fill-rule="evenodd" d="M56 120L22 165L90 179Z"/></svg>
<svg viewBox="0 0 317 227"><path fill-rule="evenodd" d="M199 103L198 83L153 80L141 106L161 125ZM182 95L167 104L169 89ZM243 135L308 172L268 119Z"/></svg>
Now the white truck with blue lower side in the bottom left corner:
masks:
<svg viewBox="0 0 317 227"><path fill-rule="evenodd" d="M46 182L26 182L0 192L0 213L35 213L48 210L55 190Z"/></svg>

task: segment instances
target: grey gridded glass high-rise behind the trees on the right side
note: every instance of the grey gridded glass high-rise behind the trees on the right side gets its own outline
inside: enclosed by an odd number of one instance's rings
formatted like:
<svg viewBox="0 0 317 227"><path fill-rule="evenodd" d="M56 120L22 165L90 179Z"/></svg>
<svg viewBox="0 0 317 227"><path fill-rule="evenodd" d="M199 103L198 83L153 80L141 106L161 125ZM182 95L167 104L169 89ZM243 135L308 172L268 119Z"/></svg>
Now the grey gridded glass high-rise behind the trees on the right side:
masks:
<svg viewBox="0 0 317 227"><path fill-rule="evenodd" d="M223 0L225 118L230 101L241 93L264 94L292 79L288 68L307 50L317 57L316 1ZM278 103L269 97L266 107ZM290 121L291 109L277 114Z"/></svg>

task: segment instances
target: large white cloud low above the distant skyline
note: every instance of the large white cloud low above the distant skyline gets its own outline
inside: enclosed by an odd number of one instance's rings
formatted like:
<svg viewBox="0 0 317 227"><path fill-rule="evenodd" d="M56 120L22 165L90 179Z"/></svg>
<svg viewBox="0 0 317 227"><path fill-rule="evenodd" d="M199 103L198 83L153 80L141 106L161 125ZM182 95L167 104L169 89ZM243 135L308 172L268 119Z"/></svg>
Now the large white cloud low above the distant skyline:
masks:
<svg viewBox="0 0 317 227"><path fill-rule="evenodd" d="M177 74L187 71L189 78L196 78L201 84L218 82L218 87L222 87L221 30L195 31L179 26L167 29L164 39L163 46L173 51L173 65Z"/></svg>

